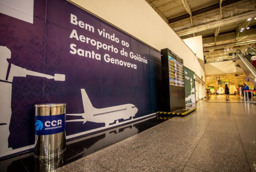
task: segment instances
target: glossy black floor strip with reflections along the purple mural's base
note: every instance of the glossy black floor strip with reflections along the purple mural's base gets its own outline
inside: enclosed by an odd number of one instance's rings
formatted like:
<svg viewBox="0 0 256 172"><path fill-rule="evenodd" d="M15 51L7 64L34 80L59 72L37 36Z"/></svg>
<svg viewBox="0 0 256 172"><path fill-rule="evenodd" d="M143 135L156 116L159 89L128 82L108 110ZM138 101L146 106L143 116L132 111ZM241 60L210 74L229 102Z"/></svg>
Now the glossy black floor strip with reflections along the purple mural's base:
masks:
<svg viewBox="0 0 256 172"><path fill-rule="evenodd" d="M168 119L170 118L172 117L169 117ZM44 161L40 162L38 159L35 159L33 157L33 152L17 155L0 161L0 171L51 171L127 139L168 119L161 115L155 115L125 126L68 141L65 154L58 160L53 160L50 163L45 163ZM49 164L54 165L49 166Z"/></svg>

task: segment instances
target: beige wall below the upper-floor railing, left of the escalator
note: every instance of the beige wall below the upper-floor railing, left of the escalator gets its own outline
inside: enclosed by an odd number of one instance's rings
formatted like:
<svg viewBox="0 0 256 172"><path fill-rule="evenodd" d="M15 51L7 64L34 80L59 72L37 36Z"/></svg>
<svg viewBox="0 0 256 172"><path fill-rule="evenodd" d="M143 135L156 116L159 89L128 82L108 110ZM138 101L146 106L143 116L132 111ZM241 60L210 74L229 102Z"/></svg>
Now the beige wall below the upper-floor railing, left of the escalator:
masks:
<svg viewBox="0 0 256 172"><path fill-rule="evenodd" d="M229 74L235 72L243 72L243 70L236 67L232 60L205 64L205 75Z"/></svg>

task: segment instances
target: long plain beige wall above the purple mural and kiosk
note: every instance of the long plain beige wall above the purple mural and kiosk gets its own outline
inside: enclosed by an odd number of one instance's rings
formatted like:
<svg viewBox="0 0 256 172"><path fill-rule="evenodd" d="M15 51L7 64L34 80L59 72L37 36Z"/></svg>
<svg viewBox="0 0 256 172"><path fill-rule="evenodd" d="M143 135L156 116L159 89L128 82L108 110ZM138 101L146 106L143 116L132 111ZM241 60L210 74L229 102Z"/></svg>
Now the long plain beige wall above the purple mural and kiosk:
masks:
<svg viewBox="0 0 256 172"><path fill-rule="evenodd" d="M205 78L194 53L145 0L70 0L157 50L168 48ZM203 79L205 81L205 79Z"/></svg>

